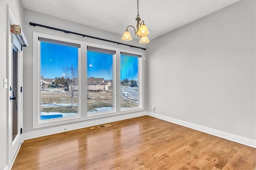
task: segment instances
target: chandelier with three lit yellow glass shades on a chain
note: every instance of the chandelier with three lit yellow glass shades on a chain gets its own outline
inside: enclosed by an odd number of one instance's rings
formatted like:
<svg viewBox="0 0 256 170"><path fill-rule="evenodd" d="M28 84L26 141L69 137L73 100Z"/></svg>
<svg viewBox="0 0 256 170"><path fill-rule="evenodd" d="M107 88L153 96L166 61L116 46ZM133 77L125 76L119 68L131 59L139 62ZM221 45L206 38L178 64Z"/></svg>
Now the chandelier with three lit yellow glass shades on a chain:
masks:
<svg viewBox="0 0 256 170"><path fill-rule="evenodd" d="M124 32L122 40L124 41L132 40L131 34L128 31L128 28L132 27L134 28L135 35L137 35L138 37L140 36L140 43L149 43L148 36L147 36L149 34L148 28L144 24L144 21L141 21L140 15L139 15L139 0L137 0L137 10L138 10L138 15L137 15L137 18L135 19L137 21L137 31L135 30L134 26L128 26L126 28L126 31Z"/></svg>

